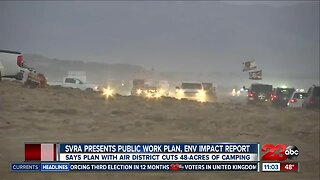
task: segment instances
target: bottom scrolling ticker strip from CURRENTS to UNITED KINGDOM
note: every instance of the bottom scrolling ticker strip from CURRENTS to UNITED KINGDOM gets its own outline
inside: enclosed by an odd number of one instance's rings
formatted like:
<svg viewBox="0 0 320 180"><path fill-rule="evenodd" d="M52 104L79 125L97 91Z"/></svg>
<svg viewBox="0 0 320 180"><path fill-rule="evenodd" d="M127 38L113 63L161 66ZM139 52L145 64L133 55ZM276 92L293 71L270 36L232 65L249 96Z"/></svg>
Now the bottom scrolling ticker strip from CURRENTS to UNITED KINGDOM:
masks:
<svg viewBox="0 0 320 180"><path fill-rule="evenodd" d="M11 172L259 172L259 163L11 163Z"/></svg>

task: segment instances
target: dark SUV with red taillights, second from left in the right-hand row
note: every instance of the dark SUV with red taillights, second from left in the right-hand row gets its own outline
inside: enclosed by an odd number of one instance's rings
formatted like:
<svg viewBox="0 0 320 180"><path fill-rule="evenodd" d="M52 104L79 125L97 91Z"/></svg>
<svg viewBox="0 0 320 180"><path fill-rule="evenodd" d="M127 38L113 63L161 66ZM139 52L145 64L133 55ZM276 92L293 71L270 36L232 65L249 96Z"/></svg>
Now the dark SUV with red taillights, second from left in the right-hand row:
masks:
<svg viewBox="0 0 320 180"><path fill-rule="evenodd" d="M271 95L272 105L287 106L287 103L294 91L294 88L275 88Z"/></svg>

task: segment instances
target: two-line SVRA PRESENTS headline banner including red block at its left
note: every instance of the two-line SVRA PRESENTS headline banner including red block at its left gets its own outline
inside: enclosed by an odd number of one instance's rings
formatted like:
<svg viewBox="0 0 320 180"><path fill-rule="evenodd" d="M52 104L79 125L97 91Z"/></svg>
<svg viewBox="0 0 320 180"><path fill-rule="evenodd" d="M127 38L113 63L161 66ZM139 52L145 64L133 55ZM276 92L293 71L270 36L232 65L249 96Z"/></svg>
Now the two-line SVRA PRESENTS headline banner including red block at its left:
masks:
<svg viewBox="0 0 320 180"><path fill-rule="evenodd" d="M259 143L26 143L25 161L256 162Z"/></svg>

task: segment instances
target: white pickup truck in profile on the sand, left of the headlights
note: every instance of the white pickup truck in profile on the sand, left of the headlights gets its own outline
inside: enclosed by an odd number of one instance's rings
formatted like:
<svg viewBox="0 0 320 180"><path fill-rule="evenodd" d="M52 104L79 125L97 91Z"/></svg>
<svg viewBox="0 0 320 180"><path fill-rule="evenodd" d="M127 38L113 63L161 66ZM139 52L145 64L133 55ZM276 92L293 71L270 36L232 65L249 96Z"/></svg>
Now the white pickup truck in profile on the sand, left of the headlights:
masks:
<svg viewBox="0 0 320 180"><path fill-rule="evenodd" d="M48 82L48 85L50 86L62 86L62 87L71 87L71 88L77 88L81 90L87 90L91 89L93 91L100 91L100 88L98 85L95 84L88 84L81 80L81 78L77 77L65 77L63 78L63 82Z"/></svg>

